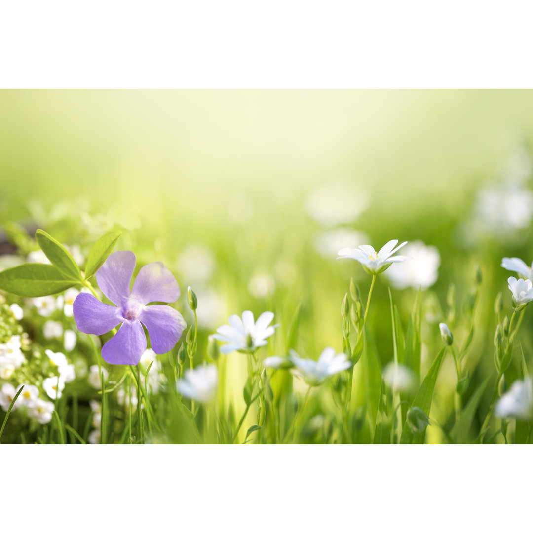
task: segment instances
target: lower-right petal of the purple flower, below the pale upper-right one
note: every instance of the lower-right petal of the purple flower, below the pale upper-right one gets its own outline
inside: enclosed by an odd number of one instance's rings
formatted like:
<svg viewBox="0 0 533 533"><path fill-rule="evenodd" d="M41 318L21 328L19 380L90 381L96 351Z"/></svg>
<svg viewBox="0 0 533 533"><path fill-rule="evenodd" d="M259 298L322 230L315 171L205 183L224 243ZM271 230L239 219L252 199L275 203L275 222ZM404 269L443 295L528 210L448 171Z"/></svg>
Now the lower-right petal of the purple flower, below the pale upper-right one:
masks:
<svg viewBox="0 0 533 533"><path fill-rule="evenodd" d="M181 314L168 305L148 305L139 320L148 329L152 350L159 354L171 351L187 327Z"/></svg>

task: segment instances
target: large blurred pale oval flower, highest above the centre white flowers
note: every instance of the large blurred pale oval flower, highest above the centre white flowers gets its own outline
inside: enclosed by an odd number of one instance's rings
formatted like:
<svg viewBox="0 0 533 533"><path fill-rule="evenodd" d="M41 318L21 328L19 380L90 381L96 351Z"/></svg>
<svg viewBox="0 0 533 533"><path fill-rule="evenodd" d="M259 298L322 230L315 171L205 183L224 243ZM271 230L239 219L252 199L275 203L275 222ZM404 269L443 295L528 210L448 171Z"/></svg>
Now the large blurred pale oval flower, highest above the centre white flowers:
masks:
<svg viewBox="0 0 533 533"><path fill-rule="evenodd" d="M305 207L308 215L321 225L350 224L365 211L370 195L354 183L328 182L311 191Z"/></svg>

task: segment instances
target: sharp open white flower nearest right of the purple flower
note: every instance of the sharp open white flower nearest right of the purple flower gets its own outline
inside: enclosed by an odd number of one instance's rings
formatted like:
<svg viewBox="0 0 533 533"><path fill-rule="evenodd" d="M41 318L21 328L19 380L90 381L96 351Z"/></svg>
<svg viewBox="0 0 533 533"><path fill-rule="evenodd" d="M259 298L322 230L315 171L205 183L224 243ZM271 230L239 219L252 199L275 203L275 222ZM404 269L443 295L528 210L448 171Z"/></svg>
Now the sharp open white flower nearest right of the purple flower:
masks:
<svg viewBox="0 0 533 533"><path fill-rule="evenodd" d="M233 351L255 352L260 346L266 344L266 337L274 334L274 330L279 324L269 326L274 318L274 313L265 311L254 323L252 311L244 311L243 319L232 314L229 318L230 325L224 324L217 329L218 333L213 335L219 341L227 342L222 346L220 353L231 353Z"/></svg>

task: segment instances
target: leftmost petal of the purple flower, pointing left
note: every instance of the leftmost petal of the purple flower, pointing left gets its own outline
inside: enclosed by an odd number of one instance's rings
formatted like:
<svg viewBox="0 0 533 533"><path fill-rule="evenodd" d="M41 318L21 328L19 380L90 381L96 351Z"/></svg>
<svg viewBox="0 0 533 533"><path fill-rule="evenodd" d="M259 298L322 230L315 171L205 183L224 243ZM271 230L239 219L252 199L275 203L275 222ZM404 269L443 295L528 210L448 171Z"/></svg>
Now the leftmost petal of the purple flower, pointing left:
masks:
<svg viewBox="0 0 533 533"><path fill-rule="evenodd" d="M124 319L114 305L100 302L89 293L79 293L74 300L74 320L80 332L103 335Z"/></svg>

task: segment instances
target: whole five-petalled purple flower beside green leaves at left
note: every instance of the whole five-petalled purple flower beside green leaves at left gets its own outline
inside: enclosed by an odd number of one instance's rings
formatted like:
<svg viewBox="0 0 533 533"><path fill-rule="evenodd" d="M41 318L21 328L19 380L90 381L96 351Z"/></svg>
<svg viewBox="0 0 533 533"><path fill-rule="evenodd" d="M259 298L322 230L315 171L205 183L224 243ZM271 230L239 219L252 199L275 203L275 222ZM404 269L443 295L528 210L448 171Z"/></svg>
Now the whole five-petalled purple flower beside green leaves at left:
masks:
<svg viewBox="0 0 533 533"><path fill-rule="evenodd" d="M138 364L146 350L143 326L156 353L171 351L187 326L168 305L147 305L179 298L180 287L171 271L160 261L149 263L141 268L130 290L134 269L133 252L114 252L96 272L100 290L116 307L89 293L80 293L74 301L74 319L83 333L103 335L121 324L102 348L104 361L111 365Z"/></svg>

